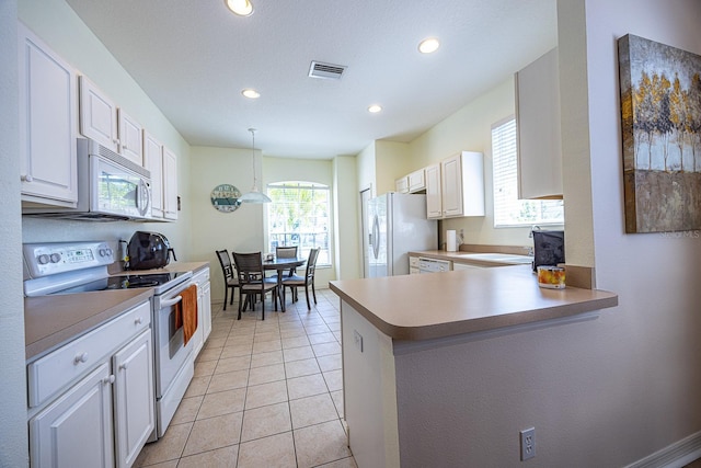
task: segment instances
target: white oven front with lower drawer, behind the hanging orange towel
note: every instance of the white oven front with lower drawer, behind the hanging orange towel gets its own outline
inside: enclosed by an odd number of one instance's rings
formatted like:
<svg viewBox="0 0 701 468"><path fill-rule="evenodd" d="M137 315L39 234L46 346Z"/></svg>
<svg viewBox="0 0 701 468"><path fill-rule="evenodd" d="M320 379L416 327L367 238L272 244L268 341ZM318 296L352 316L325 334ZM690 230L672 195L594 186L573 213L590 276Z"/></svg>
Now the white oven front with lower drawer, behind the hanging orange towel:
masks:
<svg viewBox="0 0 701 468"><path fill-rule="evenodd" d="M175 328L175 305L182 300L180 294L192 284L187 281L153 296L158 437L165 433L195 372L195 340L184 345L183 328Z"/></svg>

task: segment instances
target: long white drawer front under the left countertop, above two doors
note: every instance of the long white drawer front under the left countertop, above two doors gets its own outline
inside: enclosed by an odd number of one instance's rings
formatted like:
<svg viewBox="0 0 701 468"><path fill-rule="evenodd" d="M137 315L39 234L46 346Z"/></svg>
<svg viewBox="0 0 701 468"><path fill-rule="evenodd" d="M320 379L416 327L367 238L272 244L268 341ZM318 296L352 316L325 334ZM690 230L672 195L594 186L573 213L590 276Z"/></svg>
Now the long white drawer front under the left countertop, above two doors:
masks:
<svg viewBox="0 0 701 468"><path fill-rule="evenodd" d="M150 323L151 303L143 303L27 365L30 408L94 368Z"/></svg>

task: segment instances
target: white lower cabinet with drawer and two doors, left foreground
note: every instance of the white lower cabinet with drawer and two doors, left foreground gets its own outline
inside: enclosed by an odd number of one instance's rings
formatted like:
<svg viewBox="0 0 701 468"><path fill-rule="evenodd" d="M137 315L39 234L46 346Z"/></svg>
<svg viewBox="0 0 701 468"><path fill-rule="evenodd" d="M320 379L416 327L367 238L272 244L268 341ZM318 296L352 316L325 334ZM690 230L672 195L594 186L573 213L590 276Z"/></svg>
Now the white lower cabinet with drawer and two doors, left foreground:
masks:
<svg viewBox="0 0 701 468"><path fill-rule="evenodd" d="M33 468L134 465L156 422L150 317L147 301L27 365Z"/></svg>

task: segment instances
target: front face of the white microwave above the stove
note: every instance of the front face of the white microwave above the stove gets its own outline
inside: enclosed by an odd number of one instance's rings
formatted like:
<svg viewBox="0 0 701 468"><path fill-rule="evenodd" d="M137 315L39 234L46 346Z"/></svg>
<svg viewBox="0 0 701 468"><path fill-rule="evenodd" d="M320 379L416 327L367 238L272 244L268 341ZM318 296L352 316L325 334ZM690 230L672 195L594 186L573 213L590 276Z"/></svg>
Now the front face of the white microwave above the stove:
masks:
<svg viewBox="0 0 701 468"><path fill-rule="evenodd" d="M90 156L90 210L94 213L148 218L151 210L150 181L127 168Z"/></svg>

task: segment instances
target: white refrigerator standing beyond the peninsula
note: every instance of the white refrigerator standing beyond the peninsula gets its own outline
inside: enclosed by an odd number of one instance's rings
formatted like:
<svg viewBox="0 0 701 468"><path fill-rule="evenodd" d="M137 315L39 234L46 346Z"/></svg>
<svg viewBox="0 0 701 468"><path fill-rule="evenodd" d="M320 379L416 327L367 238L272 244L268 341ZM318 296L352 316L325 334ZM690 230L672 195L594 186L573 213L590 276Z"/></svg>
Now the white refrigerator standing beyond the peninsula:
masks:
<svg viewBox="0 0 701 468"><path fill-rule="evenodd" d="M409 252L438 249L438 221L426 195L389 192L368 201L366 277L409 274Z"/></svg>

